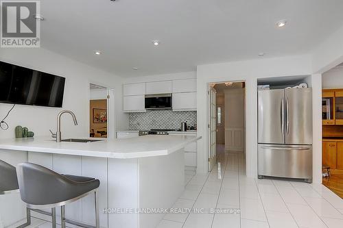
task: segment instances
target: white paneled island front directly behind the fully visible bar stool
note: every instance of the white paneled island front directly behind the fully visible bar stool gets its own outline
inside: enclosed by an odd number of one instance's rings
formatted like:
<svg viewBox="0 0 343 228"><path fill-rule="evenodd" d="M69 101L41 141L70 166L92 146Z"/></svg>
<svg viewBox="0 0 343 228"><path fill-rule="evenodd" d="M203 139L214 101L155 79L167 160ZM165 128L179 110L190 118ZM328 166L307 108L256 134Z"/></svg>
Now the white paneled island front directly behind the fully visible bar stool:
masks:
<svg viewBox="0 0 343 228"><path fill-rule="evenodd" d="M108 227L108 216L102 213L107 207L107 158L84 157L74 155L56 155L52 153L29 152L29 162L40 164L58 173L82 175L99 179L99 218L100 227ZM49 212L49 210L46 210ZM95 225L94 195L89 195L66 206L67 218L88 225ZM60 224L60 210L56 210L57 223ZM37 218L51 220L51 217L32 212Z"/></svg>

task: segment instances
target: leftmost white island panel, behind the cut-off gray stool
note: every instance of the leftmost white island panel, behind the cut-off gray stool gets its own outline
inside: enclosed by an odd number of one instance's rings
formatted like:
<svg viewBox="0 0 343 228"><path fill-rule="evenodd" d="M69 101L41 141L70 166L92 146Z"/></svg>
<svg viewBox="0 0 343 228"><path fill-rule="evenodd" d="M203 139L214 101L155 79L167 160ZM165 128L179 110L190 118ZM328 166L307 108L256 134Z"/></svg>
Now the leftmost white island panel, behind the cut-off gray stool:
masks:
<svg viewBox="0 0 343 228"><path fill-rule="evenodd" d="M16 166L27 162L27 151L0 149L0 160ZM21 201L19 192L0 195L0 224L2 223L3 227L13 225L24 218L26 218L25 204Z"/></svg>

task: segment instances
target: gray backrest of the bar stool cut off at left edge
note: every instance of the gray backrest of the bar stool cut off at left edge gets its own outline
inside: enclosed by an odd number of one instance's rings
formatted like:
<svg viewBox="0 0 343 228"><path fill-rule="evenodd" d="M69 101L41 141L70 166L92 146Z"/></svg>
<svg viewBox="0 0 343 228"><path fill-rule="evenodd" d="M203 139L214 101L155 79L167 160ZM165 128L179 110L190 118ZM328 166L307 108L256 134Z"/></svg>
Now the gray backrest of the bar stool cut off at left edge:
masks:
<svg viewBox="0 0 343 228"><path fill-rule="evenodd" d="M7 162L0 160L0 194L18 190L18 179L16 178L16 168Z"/></svg>

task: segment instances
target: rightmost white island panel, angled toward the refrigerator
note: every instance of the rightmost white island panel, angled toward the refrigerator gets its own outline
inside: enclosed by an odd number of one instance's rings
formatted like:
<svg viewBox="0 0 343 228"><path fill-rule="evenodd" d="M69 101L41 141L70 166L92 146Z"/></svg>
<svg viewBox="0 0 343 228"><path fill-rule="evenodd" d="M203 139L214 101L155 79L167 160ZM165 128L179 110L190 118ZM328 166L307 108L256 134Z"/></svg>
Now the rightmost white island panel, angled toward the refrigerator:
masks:
<svg viewBox="0 0 343 228"><path fill-rule="evenodd" d="M181 149L165 156L139 158L139 207L169 208L185 189L185 157ZM156 227L164 214L139 214L139 227Z"/></svg>

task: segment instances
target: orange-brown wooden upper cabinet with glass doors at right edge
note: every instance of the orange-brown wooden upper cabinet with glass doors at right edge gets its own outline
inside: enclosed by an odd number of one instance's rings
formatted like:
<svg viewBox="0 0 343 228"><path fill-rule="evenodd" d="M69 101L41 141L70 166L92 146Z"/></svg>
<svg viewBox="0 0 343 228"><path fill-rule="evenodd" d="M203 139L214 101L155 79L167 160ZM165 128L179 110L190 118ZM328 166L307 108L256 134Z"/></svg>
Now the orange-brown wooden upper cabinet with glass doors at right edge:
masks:
<svg viewBox="0 0 343 228"><path fill-rule="evenodd" d="M343 125L343 89L322 90L322 124Z"/></svg>

